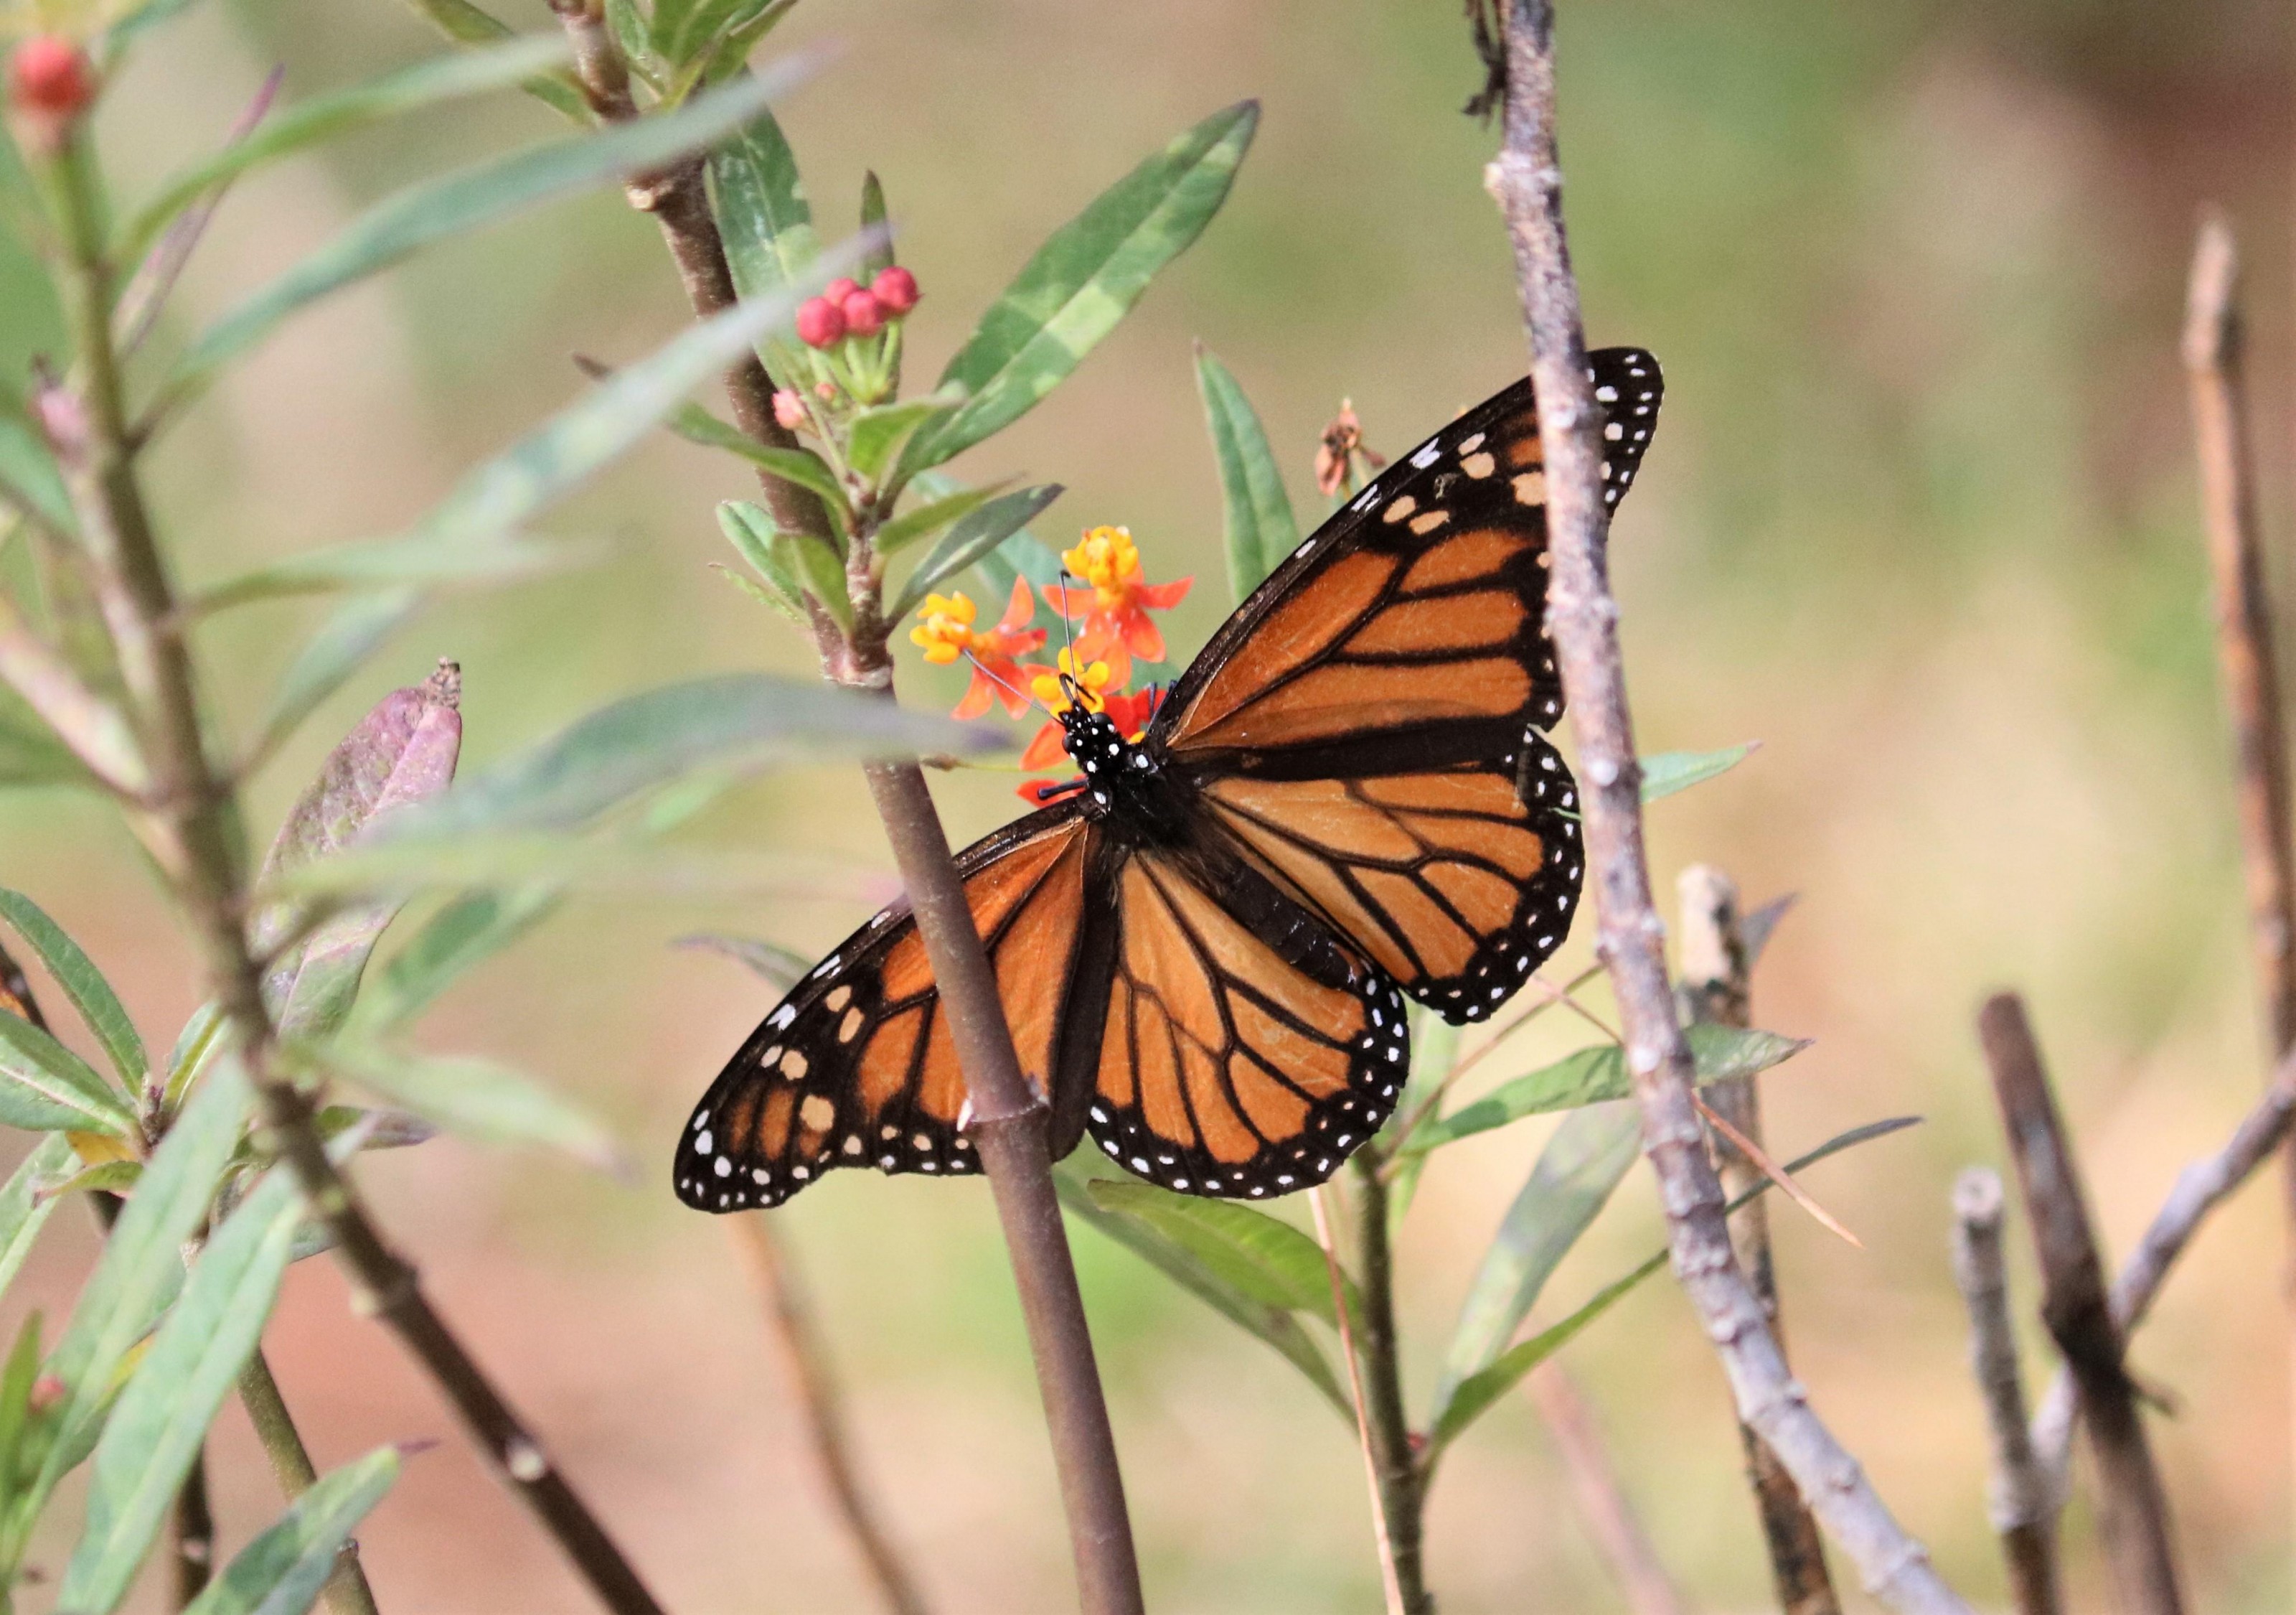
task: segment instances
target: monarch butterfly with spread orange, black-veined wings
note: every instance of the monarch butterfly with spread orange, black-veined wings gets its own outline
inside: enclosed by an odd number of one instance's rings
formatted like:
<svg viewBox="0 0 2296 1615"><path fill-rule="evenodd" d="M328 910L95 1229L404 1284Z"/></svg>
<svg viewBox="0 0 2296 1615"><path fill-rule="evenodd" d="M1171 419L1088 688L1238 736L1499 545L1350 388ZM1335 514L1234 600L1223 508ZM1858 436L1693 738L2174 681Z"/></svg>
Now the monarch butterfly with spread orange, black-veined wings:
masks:
<svg viewBox="0 0 2296 1615"><path fill-rule="evenodd" d="M1605 503L1658 361L1591 356ZM1054 1158L1091 1133L1185 1195L1320 1183L1396 1105L1405 997L1495 1011L1564 940L1577 788L1545 618L1531 384L1380 473L1277 567L1137 744L1061 712L1079 788L957 859ZM964 1077L905 905L751 1034L677 1142L703 1211L831 1167L967 1174Z"/></svg>

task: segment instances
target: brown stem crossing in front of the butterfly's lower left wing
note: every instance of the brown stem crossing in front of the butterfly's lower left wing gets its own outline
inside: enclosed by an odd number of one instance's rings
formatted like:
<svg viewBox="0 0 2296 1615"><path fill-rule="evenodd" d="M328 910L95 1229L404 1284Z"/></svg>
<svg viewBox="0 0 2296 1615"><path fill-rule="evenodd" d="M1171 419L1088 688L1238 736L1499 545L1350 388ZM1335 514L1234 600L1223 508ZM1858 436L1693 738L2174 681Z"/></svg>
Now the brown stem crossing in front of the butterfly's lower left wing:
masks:
<svg viewBox="0 0 2296 1615"><path fill-rule="evenodd" d="M629 71L604 25L602 0L553 0L574 39L576 71L590 108L608 122L636 117ZM705 165L687 161L629 186L631 207L654 216L670 248L687 301L698 317L735 303L726 241L709 211ZM792 448L794 436L774 418L774 381L755 356L744 356L726 374L735 423L755 441ZM829 517L815 494L760 471L774 521L790 533L827 535ZM822 673L847 689L893 698L889 625L879 611L882 565L868 533L856 531L847 549L852 629L840 632L822 611L813 613ZM1061 1475L1070 1548L1077 1560L1077 1592L1086 1615L1139 1615L1139 1560L1125 1512L1123 1470L1100 1365L1077 1289L1077 1266L1052 1188L1047 1114L1022 1075L1003 999L990 969L974 912L957 878L948 834L941 829L932 790L916 763L870 763L866 770L877 816L884 820L893 861L900 866L916 930L932 965L941 1006L964 1073L971 1103L967 1135L980 1153L980 1169L996 1199L1013 1280L1019 1289L1038 1390Z"/></svg>

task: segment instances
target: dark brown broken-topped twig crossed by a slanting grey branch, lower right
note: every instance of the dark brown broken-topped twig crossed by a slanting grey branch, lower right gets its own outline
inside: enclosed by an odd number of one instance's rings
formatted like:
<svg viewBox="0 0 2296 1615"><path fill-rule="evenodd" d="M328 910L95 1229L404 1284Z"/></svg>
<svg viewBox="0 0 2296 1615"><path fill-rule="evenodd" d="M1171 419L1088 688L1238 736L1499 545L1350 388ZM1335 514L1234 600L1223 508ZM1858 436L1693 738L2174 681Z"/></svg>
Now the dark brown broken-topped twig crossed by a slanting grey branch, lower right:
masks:
<svg viewBox="0 0 2296 1615"><path fill-rule="evenodd" d="M2096 1530L2112 1560L2122 1608L2128 1615L2179 1615L2183 1592L2170 1541L2167 1493L2144 1440L2135 1385L2122 1367L2122 1330L2105 1296L2105 1268L2089 1229L2080 1167L2041 1071L2041 1050L2023 1002L2014 992L1986 999L1977 1013L1977 1036L1993 1071L2002 1130L2009 1135L2041 1259L2041 1321L2080 1385L2101 1493Z"/></svg>

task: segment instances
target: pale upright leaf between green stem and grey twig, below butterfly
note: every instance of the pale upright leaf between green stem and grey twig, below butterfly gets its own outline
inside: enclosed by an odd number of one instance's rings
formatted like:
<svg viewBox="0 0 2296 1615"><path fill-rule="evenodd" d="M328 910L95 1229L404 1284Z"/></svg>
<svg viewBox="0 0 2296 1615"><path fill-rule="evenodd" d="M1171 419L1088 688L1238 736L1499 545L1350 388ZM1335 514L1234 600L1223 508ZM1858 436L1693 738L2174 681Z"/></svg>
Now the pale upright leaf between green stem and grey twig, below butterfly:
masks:
<svg viewBox="0 0 2296 1615"><path fill-rule="evenodd" d="M1499 1231L1467 1286L1451 1346L1444 1351L1430 1424L1442 1422L1460 1381L1488 1369L1506 1349L1538 1303L1538 1291L1639 1153L1642 1114L1632 1100L1589 1105L1564 1116L1554 1137L1538 1151L1538 1165L1499 1220Z"/></svg>

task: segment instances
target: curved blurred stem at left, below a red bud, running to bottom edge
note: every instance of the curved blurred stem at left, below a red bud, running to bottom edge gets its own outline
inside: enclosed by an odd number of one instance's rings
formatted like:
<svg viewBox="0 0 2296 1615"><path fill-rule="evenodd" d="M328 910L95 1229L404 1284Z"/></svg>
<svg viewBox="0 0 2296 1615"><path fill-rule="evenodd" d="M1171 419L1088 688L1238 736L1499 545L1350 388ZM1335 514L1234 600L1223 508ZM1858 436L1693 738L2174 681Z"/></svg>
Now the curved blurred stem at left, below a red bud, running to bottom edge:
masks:
<svg viewBox="0 0 2296 1615"><path fill-rule="evenodd" d="M90 179L73 131L60 154L57 198L71 246L67 312L85 377L87 443L64 455L67 482L94 563L96 593L119 655L129 717L152 776L133 825L191 924L209 990L255 1084L264 1146L285 1160L305 1201L335 1238L354 1305L381 1316L461 1413L599 1599L629 1615L659 1606L574 1489L542 1456L494 1383L422 1296L416 1268L367 1220L351 1183L328 1160L315 1105L280 1068L262 972L246 935L246 859L236 790L202 747L200 696L149 508L135 469L119 363L113 347L113 266L101 248Z"/></svg>

